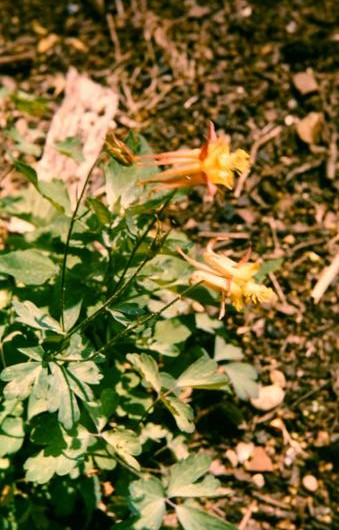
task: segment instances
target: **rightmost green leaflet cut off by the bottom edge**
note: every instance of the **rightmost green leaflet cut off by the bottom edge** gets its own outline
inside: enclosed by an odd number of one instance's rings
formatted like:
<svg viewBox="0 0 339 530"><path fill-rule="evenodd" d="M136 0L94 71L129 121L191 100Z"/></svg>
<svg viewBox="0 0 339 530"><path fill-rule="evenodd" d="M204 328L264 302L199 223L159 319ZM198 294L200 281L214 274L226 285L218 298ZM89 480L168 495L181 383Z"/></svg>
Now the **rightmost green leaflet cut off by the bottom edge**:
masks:
<svg viewBox="0 0 339 530"><path fill-rule="evenodd" d="M180 504L175 507L180 524L184 530L236 530L227 521L213 517L202 510Z"/></svg>

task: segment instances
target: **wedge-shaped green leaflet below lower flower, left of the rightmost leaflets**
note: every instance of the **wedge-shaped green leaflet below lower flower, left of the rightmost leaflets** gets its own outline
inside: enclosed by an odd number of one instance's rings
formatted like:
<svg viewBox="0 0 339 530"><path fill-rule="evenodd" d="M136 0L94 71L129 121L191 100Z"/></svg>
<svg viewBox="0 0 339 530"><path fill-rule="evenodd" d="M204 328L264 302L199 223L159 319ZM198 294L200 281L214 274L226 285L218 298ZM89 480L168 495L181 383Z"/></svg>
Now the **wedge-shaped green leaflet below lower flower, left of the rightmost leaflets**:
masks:
<svg viewBox="0 0 339 530"><path fill-rule="evenodd" d="M177 379L178 388L222 388L228 384L227 377L217 372L218 365L213 359L200 357L189 366Z"/></svg>

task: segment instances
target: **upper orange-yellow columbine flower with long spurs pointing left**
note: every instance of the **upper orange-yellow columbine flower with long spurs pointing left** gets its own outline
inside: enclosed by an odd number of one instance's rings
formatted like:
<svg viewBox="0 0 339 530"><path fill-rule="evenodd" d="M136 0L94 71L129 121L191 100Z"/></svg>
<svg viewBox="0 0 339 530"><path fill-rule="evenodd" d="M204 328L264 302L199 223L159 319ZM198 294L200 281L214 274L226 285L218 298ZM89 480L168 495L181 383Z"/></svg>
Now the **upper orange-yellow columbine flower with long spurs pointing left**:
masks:
<svg viewBox="0 0 339 530"><path fill-rule="evenodd" d="M244 173L249 168L249 155L242 149L230 152L226 136L216 135L214 125L209 124L207 142L200 149L179 149L160 154L136 157L142 165L172 166L140 184L159 183L154 191L196 186L208 187L209 195L217 192L217 184L232 189L234 173Z"/></svg>

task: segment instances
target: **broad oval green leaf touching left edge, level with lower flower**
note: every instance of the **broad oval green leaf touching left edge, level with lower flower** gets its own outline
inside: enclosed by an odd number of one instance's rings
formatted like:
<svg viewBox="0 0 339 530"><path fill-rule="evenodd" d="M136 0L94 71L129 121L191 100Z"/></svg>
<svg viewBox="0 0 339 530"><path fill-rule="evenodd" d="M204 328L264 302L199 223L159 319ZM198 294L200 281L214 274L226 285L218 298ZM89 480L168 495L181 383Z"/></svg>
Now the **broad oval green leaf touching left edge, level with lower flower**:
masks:
<svg viewBox="0 0 339 530"><path fill-rule="evenodd" d="M57 266L38 250L14 250L0 255L0 273L25 285L42 285L56 276Z"/></svg>

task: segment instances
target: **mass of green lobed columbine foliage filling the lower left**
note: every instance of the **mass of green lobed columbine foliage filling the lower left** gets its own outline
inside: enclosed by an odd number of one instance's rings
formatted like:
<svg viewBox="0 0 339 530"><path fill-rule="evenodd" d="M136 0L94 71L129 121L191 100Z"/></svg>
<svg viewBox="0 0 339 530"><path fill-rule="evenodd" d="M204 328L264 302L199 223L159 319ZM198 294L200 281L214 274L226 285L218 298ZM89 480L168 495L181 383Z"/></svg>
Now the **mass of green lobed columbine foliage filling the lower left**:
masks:
<svg viewBox="0 0 339 530"><path fill-rule="evenodd" d="M16 98L27 111L42 105ZM57 145L78 162L80 147ZM150 151L142 138L129 148ZM184 529L230 530L200 503L219 481L209 458L188 452L187 396L231 383L247 398L256 374L222 322L191 311L185 295L202 302L207 291L188 286L190 266L176 252L189 246L184 234L162 227L173 194L149 195L138 182L154 168L106 155L105 197L72 212L62 182L13 163L28 185L2 211L30 228L0 251L1 528L63 528L77 506L77 527L87 528L105 502L112 527L156 530L174 510ZM103 500L104 484L115 490Z"/></svg>

